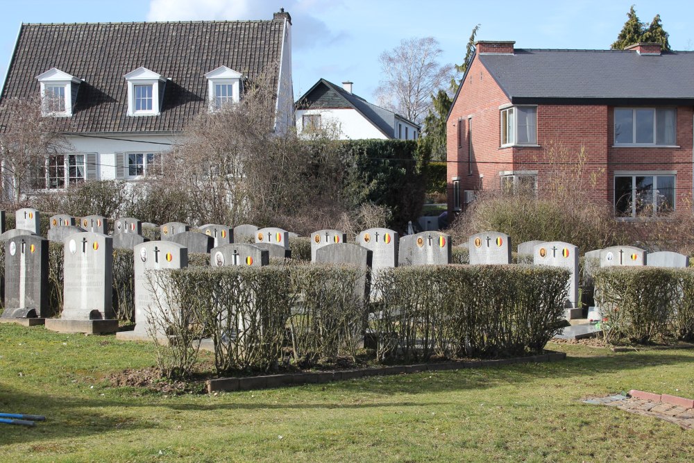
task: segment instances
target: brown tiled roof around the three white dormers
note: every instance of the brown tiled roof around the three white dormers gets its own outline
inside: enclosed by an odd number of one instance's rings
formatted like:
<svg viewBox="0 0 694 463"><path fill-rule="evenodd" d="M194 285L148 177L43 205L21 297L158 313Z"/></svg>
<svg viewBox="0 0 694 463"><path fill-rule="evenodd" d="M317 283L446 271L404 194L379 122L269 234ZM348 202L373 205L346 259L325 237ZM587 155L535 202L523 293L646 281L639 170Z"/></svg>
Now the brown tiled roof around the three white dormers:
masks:
<svg viewBox="0 0 694 463"><path fill-rule="evenodd" d="M38 96L36 76L57 67L84 79L73 117L62 118L66 132L180 131L207 110L204 74L221 65L249 80L270 66L277 86L283 26L281 20L22 24L1 98ZM171 79L159 116L126 115L123 76L141 66Z"/></svg>

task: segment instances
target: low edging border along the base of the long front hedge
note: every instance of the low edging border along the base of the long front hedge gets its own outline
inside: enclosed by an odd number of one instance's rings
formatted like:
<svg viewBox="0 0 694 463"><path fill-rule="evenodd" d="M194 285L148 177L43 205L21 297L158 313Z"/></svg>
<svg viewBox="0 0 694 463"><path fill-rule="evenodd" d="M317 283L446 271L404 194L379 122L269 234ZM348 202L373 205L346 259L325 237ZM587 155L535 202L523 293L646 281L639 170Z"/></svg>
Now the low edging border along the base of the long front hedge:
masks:
<svg viewBox="0 0 694 463"><path fill-rule="evenodd" d="M514 357L500 360L471 360L467 362L441 362L413 365L395 365L368 369L341 371L316 371L307 373L287 373L282 375L247 376L244 378L219 378L207 380L208 393L248 391L250 389L267 389L290 385L320 384L333 381L367 378L369 376L399 375L401 373L419 373L421 371L460 370L466 368L496 367L518 363L557 362L566 359L566 353L545 351L541 355Z"/></svg>

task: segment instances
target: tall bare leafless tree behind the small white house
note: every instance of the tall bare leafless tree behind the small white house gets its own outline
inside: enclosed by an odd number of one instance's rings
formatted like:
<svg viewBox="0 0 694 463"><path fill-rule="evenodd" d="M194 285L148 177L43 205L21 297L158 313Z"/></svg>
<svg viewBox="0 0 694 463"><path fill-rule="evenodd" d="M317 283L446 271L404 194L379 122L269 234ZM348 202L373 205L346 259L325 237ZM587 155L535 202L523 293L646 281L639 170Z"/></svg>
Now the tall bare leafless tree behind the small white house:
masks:
<svg viewBox="0 0 694 463"><path fill-rule="evenodd" d="M381 53L379 104L420 123L432 105L432 94L447 87L451 78L453 67L439 64L441 53L434 37L402 40L398 47Z"/></svg>

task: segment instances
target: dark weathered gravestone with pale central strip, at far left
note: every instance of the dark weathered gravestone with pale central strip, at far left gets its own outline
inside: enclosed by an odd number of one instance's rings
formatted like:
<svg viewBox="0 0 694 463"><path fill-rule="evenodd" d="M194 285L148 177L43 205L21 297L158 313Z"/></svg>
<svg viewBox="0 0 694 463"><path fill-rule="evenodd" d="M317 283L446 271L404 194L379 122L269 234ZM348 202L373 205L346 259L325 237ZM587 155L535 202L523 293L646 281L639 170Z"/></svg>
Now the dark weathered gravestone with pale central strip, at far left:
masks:
<svg viewBox="0 0 694 463"><path fill-rule="evenodd" d="M49 310L49 240L18 235L4 246L5 310L0 321L42 325Z"/></svg>

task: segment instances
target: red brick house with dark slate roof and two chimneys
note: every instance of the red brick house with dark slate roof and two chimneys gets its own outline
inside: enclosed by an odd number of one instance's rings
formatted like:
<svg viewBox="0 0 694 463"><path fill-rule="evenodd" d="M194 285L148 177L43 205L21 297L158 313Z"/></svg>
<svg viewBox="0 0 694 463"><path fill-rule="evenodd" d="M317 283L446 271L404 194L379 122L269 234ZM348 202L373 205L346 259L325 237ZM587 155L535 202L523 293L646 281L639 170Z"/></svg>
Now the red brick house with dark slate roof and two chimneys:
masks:
<svg viewBox="0 0 694 463"><path fill-rule="evenodd" d="M618 217L691 208L694 53L515 49L480 41L446 121L448 210L475 191L547 194L585 158L584 190ZM553 160L552 160L553 159ZM567 161L568 160L568 161ZM552 177L553 176L553 177ZM544 192L543 192L544 190Z"/></svg>

